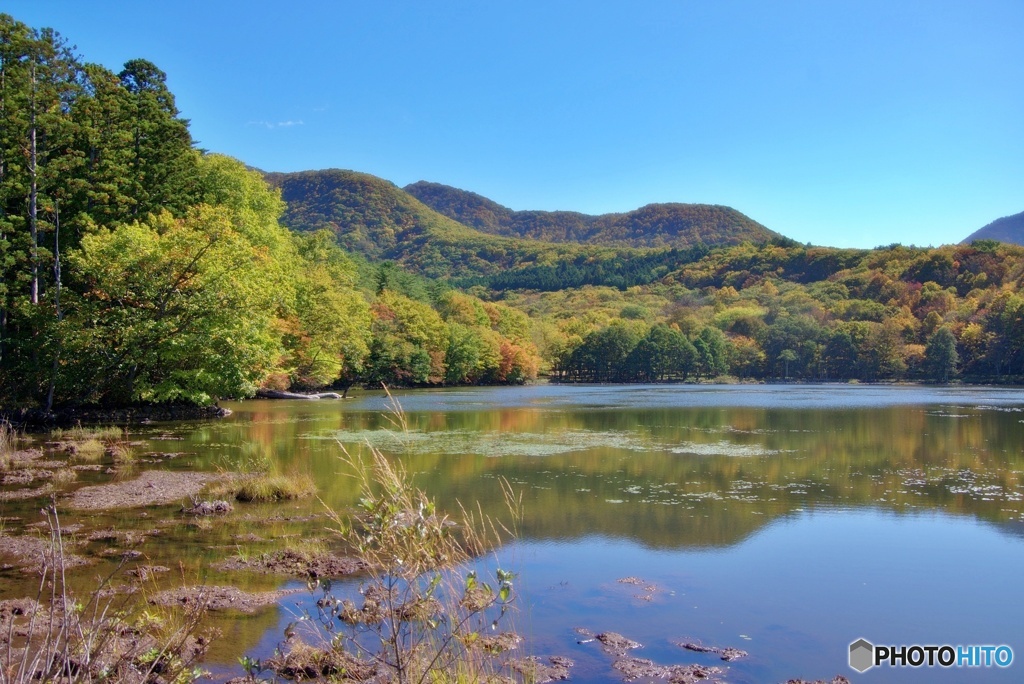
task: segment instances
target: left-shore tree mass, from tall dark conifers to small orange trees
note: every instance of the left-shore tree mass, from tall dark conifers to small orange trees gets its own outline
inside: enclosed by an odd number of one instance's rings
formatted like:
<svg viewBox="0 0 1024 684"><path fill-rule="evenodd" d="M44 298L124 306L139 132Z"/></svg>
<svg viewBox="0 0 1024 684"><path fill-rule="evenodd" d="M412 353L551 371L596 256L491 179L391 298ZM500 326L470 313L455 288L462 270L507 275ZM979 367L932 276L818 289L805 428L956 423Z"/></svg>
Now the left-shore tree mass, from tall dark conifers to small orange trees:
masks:
<svg viewBox="0 0 1024 684"><path fill-rule="evenodd" d="M284 209L261 174L195 148L155 65L83 63L0 14L4 407L536 376L522 314L294 234Z"/></svg>

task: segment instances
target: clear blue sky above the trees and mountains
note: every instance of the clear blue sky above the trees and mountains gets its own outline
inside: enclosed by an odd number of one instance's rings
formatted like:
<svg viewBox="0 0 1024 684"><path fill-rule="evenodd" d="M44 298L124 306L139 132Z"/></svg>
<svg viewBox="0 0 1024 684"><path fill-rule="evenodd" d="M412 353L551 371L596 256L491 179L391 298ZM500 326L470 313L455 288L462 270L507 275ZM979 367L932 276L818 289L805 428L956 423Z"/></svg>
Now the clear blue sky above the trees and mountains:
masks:
<svg viewBox="0 0 1024 684"><path fill-rule="evenodd" d="M801 242L955 243L1024 211L1021 0L3 0L145 57L272 171L513 209L729 205Z"/></svg>

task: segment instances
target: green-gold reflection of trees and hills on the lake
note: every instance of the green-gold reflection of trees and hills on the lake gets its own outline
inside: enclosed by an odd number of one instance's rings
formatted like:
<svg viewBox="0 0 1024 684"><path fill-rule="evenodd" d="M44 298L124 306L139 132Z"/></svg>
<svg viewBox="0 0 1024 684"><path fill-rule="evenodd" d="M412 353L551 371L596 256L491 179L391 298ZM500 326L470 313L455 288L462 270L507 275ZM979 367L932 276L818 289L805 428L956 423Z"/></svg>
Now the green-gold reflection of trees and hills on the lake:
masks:
<svg viewBox="0 0 1024 684"><path fill-rule="evenodd" d="M254 414L257 424L238 424L233 438L264 444L285 469L312 471L330 505L349 505L355 491L338 475L337 445L303 436L341 430L358 441L393 426L376 413L289 411L285 422L273 407ZM1009 412L501 409L408 419L414 438L388 448L421 486L499 515L505 477L525 493L527 537L719 546L797 509L937 509L990 520L1022 509L1024 459Z"/></svg>

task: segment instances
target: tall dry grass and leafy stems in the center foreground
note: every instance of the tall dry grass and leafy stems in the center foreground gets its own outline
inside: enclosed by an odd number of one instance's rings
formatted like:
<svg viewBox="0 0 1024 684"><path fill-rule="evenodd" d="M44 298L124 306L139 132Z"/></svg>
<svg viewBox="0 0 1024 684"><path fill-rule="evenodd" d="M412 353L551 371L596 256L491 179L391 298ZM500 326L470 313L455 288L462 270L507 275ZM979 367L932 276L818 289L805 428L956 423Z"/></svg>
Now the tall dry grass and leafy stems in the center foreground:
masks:
<svg viewBox="0 0 1024 684"><path fill-rule="evenodd" d="M454 517L438 512L404 467L376 450L368 459L342 451L361 499L356 513L329 515L359 560L375 569L358 601L325 588L322 613L310 623L338 633L319 654L311 656L300 642L300 652L266 665L288 676L296 660L312 665L308 674L324 673L324 662L343 661L399 684L510 681L510 651L520 642L509 614L513 574L495 568L484 578L478 559L512 532L479 511L460 508ZM517 520L519 501L507 495Z"/></svg>

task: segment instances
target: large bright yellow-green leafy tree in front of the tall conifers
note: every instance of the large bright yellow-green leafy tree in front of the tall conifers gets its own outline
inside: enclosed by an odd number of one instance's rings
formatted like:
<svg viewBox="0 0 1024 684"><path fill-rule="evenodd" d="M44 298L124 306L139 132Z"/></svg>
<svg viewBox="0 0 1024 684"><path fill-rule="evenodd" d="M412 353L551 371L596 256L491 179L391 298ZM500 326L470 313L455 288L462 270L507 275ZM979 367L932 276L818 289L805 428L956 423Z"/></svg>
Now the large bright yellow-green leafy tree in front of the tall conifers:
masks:
<svg viewBox="0 0 1024 684"><path fill-rule="evenodd" d="M280 353L265 261L215 208L84 237L69 254L81 291L59 331L62 401L251 394Z"/></svg>

